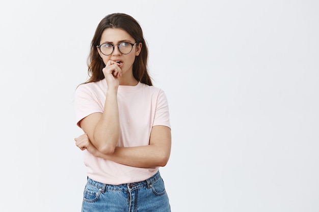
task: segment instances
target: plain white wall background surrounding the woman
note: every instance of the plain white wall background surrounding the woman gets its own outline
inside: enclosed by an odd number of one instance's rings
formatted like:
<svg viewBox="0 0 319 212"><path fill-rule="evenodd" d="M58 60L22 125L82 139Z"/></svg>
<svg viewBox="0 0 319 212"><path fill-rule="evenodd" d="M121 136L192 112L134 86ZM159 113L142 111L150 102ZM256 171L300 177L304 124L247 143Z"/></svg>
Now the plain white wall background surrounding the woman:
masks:
<svg viewBox="0 0 319 212"><path fill-rule="evenodd" d="M141 24L172 211L319 211L319 2L2 1L0 211L81 210L73 92L98 22Z"/></svg>

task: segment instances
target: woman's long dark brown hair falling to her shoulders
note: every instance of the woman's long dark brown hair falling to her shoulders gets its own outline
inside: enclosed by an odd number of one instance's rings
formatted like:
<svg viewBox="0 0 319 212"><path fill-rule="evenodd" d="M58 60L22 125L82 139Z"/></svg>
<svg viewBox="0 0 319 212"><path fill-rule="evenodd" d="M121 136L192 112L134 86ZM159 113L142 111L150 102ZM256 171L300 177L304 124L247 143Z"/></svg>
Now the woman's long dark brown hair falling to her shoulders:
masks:
<svg viewBox="0 0 319 212"><path fill-rule="evenodd" d="M136 42L142 43L142 49L139 56L135 57L133 64L134 78L142 83L152 85L152 80L147 70L148 49L143 36L140 24L131 16L124 13L113 13L105 16L98 24L91 42L91 50L88 57L88 82L96 82L104 79L102 69L105 67L102 58L97 51L97 45L100 44L102 33L107 28L121 28L131 35Z"/></svg>

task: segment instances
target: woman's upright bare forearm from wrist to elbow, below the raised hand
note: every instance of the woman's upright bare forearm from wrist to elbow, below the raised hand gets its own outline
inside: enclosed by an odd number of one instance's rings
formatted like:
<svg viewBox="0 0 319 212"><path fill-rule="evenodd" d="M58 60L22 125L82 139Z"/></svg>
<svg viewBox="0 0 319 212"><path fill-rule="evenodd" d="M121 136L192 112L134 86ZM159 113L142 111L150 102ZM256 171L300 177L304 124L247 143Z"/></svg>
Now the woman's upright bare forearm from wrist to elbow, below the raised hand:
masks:
<svg viewBox="0 0 319 212"><path fill-rule="evenodd" d="M102 116L97 123L92 143L99 152L113 154L120 133L117 91L108 90Z"/></svg>

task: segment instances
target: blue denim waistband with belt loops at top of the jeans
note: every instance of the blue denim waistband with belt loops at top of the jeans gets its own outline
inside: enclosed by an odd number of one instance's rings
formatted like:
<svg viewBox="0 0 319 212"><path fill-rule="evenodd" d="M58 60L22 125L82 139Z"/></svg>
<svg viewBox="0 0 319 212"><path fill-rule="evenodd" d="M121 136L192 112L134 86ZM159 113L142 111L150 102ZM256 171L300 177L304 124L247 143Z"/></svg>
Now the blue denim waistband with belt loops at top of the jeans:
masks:
<svg viewBox="0 0 319 212"><path fill-rule="evenodd" d="M159 174L159 171L156 172L153 176L150 178L136 182L136 183L129 183L129 184L120 184L120 185L110 185L110 184L102 184L98 181L95 181L88 177L88 184L91 184L92 186L95 186L99 188L99 190L103 193L105 190L111 190L111 191L132 191L141 187L147 186L147 188L151 187L151 184L156 181L158 178L161 177L161 174Z"/></svg>

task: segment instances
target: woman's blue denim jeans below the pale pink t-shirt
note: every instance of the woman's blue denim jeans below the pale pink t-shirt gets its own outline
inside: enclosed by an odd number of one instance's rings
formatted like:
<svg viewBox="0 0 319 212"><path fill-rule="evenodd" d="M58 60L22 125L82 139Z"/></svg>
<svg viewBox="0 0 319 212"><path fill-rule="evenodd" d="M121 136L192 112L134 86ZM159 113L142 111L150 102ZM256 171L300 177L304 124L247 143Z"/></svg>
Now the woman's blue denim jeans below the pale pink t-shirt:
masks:
<svg viewBox="0 0 319 212"><path fill-rule="evenodd" d="M82 212L170 212L164 181L157 172L137 183L108 185L88 178Z"/></svg>

